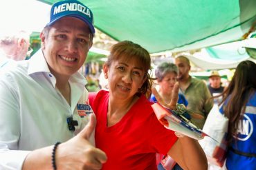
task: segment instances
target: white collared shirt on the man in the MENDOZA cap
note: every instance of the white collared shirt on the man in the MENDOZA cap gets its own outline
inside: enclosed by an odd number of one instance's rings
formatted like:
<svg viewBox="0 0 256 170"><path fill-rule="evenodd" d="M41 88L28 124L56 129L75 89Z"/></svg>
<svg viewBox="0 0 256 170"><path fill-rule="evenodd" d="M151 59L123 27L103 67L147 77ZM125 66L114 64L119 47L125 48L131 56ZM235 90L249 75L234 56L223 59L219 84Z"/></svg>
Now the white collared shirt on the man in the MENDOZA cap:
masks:
<svg viewBox="0 0 256 170"><path fill-rule="evenodd" d="M84 76L76 72L68 82L71 105L55 87L42 50L30 60L0 68L0 169L21 169L29 151L65 142L89 122L86 115L92 111L84 109L88 102ZM75 131L66 123L71 116L78 121ZM90 141L94 145L94 134Z"/></svg>

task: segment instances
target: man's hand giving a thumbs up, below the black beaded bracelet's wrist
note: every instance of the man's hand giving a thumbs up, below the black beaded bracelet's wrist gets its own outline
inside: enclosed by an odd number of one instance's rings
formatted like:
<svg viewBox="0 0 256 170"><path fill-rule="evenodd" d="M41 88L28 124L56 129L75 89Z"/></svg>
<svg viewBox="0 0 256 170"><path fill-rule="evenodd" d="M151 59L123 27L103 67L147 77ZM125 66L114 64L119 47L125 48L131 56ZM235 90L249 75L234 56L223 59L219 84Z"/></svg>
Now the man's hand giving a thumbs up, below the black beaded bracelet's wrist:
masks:
<svg viewBox="0 0 256 170"><path fill-rule="evenodd" d="M90 122L77 136L57 147L55 160L58 169L102 169L106 154L89 142L96 125L94 114Z"/></svg>

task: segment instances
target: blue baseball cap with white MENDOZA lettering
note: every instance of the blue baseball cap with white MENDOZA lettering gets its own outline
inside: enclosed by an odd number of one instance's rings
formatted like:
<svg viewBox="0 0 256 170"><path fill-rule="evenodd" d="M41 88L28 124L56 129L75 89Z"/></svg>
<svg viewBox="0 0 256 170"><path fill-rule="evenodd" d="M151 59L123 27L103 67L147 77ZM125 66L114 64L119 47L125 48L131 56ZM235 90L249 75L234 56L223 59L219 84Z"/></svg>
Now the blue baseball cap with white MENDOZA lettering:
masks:
<svg viewBox="0 0 256 170"><path fill-rule="evenodd" d="M93 26L93 12L80 3L77 0L66 0L53 3L51 7L51 17L50 22L47 25L53 25L55 21L62 19L62 17L75 17L81 19L88 26L93 34L95 34L95 29Z"/></svg>

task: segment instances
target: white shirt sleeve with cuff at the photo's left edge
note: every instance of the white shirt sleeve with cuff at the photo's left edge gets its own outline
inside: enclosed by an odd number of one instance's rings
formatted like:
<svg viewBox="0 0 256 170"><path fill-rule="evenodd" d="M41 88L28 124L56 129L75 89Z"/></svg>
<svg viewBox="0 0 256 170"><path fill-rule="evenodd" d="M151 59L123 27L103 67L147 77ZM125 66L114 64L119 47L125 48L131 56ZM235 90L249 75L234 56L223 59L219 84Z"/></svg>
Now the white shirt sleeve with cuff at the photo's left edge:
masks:
<svg viewBox="0 0 256 170"><path fill-rule="evenodd" d="M18 151L19 96L10 74L0 76L0 169L21 169L29 151Z"/></svg>

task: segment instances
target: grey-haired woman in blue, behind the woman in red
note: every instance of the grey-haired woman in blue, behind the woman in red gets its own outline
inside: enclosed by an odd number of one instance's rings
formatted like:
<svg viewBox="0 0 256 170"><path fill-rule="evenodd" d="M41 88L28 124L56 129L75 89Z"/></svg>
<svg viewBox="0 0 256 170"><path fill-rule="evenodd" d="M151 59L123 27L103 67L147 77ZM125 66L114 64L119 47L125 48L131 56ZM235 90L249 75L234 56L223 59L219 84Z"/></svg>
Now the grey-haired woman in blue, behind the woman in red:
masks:
<svg viewBox="0 0 256 170"><path fill-rule="evenodd" d="M159 85L158 93L165 103L170 103L172 99L172 89L176 83L176 77L178 75L178 67L174 63L163 62L156 67L155 76L156 81ZM150 101L156 103L156 97L154 94L151 95ZM185 106L188 105L188 101L185 99L183 94L179 94L178 103ZM156 154L156 163L158 164L158 170L161 169L176 169L179 164L176 164L174 160L168 155L163 156ZM174 167L175 166L175 167Z"/></svg>

